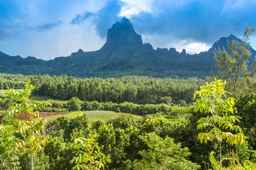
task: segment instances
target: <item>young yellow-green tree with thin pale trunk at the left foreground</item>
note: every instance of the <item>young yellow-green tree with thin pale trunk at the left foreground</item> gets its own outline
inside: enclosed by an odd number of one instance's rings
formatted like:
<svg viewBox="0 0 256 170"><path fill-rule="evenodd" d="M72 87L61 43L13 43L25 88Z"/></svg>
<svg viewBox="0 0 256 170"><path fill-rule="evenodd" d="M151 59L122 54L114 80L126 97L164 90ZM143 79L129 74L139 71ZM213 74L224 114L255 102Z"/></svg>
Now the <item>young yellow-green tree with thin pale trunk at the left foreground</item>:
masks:
<svg viewBox="0 0 256 170"><path fill-rule="evenodd" d="M46 119L39 117L39 109L50 105L48 102L30 100L29 97L34 90L28 79L24 90L10 89L8 100L11 101L3 119L7 120L17 134L21 136L16 140L16 147L22 151L29 148L31 154L31 170L33 166L33 154L39 153L46 145L47 136L42 134L46 125ZM25 119L15 119L19 115L26 115Z"/></svg>

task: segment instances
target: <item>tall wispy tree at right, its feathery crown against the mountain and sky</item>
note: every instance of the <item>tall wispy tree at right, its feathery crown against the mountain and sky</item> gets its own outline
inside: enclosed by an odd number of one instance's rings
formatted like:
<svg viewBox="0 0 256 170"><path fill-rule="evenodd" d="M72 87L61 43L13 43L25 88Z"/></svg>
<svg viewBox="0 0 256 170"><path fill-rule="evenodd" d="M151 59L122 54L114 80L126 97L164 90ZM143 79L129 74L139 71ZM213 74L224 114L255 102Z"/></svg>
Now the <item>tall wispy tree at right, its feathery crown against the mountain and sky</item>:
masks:
<svg viewBox="0 0 256 170"><path fill-rule="evenodd" d="M232 86L232 92L236 90L236 83L241 76L248 73L248 58L252 55L250 52L249 37L256 28L246 27L242 41L232 40L227 41L228 52L223 47L215 49L214 58L216 67L219 69L218 76L220 79L229 80Z"/></svg>

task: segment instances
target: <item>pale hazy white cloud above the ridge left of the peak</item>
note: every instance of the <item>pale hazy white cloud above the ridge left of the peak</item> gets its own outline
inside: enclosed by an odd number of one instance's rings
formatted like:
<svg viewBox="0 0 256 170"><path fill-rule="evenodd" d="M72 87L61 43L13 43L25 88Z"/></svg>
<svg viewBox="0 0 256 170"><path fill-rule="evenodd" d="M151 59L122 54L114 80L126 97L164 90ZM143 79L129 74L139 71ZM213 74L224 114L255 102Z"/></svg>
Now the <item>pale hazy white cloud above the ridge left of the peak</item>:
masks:
<svg viewBox="0 0 256 170"><path fill-rule="evenodd" d="M2 52L21 57L34 56L49 60L58 56L68 56L80 49L83 51L98 50L105 40L98 34L91 23L71 25L63 23L52 30L38 32L29 31L0 42Z"/></svg>

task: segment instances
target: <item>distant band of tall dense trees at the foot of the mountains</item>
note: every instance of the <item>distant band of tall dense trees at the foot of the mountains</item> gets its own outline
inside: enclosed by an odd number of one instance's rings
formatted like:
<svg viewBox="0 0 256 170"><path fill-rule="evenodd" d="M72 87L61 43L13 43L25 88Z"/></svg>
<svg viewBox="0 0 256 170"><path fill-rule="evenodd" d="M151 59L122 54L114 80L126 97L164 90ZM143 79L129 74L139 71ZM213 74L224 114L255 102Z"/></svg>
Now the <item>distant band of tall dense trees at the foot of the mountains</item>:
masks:
<svg viewBox="0 0 256 170"><path fill-rule="evenodd" d="M78 97L81 101L175 103L193 102L193 93L203 80L197 78L172 79L146 76L125 76L122 78L86 78L38 75L31 76L36 86L35 95L53 99L70 100Z"/></svg>

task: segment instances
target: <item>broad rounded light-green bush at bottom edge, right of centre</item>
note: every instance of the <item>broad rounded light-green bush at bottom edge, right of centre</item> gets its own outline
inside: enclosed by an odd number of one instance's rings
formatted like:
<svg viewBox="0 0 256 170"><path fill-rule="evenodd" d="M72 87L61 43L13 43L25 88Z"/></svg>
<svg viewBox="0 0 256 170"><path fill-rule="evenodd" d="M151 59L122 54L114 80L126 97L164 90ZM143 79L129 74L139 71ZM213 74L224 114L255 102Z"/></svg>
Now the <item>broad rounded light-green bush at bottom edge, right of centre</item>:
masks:
<svg viewBox="0 0 256 170"><path fill-rule="evenodd" d="M155 133L149 133L140 138L148 146L148 150L140 151L141 160L134 162L135 170L198 170L199 165L186 158L191 154L188 148L174 143L174 139L162 139Z"/></svg>

